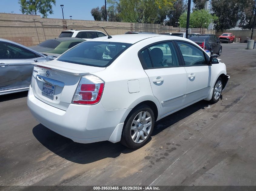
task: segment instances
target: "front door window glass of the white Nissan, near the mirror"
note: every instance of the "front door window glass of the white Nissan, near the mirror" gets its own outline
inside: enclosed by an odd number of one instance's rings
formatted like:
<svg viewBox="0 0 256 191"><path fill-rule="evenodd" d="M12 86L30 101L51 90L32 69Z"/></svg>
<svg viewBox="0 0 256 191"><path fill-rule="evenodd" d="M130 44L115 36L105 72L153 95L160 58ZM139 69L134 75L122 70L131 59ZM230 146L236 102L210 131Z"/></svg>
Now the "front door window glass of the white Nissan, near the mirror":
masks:
<svg viewBox="0 0 256 191"><path fill-rule="evenodd" d="M196 46L185 42L177 42L177 44L181 50L186 66L204 65L207 63L204 57L204 53Z"/></svg>

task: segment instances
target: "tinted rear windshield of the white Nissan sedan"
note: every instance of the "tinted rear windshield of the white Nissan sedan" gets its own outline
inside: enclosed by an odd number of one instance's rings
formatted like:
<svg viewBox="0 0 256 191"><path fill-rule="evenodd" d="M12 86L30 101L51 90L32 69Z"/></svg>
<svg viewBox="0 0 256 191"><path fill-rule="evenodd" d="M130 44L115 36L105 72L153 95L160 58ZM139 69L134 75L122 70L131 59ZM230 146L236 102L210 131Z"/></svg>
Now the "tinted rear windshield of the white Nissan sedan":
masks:
<svg viewBox="0 0 256 191"><path fill-rule="evenodd" d="M86 41L62 54L58 61L107 67L131 45L129 43Z"/></svg>

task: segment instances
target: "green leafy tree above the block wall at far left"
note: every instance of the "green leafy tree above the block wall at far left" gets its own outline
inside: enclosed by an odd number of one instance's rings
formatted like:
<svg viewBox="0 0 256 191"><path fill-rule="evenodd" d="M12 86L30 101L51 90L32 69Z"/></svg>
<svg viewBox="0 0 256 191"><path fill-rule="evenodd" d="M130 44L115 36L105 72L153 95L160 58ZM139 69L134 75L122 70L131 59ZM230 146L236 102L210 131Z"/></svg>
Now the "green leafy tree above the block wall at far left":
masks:
<svg viewBox="0 0 256 191"><path fill-rule="evenodd" d="M48 13L53 14L52 4L56 5L56 0L19 0L22 14L42 14L42 18L47 18Z"/></svg>

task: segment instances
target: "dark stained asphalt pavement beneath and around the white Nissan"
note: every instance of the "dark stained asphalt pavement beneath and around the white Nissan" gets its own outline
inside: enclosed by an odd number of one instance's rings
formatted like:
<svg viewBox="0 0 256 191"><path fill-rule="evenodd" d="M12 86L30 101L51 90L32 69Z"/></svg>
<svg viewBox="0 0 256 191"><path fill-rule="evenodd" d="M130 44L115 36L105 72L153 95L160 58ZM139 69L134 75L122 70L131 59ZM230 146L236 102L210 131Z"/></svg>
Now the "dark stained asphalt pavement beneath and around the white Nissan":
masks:
<svg viewBox="0 0 256 191"><path fill-rule="evenodd" d="M161 119L138 150L75 143L33 118L28 92L0 96L0 186L256 186L256 49L221 45L230 75L221 100Z"/></svg>

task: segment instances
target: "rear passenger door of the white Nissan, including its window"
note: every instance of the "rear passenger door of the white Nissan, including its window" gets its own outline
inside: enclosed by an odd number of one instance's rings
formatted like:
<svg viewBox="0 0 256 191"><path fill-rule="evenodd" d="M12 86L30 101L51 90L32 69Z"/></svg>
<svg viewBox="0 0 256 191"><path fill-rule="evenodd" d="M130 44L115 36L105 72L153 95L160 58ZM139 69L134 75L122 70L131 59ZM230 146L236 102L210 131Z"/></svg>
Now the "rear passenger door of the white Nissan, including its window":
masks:
<svg viewBox="0 0 256 191"><path fill-rule="evenodd" d="M184 105L187 72L173 42L148 46L139 53L154 96L161 105L161 116Z"/></svg>

